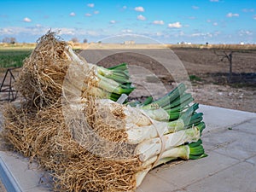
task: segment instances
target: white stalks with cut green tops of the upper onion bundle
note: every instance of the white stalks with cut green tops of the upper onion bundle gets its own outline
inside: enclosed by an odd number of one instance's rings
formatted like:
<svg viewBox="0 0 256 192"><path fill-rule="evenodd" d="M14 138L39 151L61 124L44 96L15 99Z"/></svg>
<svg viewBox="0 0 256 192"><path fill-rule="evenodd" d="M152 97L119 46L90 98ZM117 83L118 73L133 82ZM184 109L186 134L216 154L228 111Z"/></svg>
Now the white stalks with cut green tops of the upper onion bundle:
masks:
<svg viewBox="0 0 256 192"><path fill-rule="evenodd" d="M77 91L86 90L86 93L90 94L90 92L92 92L90 95L93 95L94 93L95 95L93 96L98 96L99 98L111 98L116 101L118 98L111 97L112 93L116 95L121 95L123 93L129 95L131 91L134 90L134 87L132 87L131 84L123 84L131 83L128 73L87 63L83 58L80 58L79 55L76 55L73 49L69 46L67 46L65 54L67 55L67 60L71 61L66 78L76 87ZM128 69L125 68L125 70ZM96 91L95 87L101 90ZM106 94L103 93L104 91Z"/></svg>

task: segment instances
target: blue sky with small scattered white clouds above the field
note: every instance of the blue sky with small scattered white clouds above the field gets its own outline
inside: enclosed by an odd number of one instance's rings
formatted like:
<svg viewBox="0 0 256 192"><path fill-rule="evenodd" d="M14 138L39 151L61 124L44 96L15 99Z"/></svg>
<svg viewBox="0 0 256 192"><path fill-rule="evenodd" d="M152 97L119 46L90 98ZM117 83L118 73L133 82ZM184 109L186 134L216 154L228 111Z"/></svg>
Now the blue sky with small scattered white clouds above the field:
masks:
<svg viewBox="0 0 256 192"><path fill-rule="evenodd" d="M0 0L0 41L35 42L49 29L80 42L132 33L165 44L256 44L256 1Z"/></svg>

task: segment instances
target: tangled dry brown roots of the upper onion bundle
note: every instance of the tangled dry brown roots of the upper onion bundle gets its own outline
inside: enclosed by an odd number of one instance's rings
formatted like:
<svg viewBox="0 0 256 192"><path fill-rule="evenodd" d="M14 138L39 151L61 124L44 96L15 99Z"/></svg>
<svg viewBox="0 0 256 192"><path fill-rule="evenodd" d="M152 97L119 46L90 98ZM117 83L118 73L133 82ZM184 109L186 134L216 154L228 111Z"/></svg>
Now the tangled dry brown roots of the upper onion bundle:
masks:
<svg viewBox="0 0 256 192"><path fill-rule="evenodd" d="M61 105L61 89L70 60L67 42L47 32L38 39L32 54L26 58L16 89L38 108Z"/></svg>

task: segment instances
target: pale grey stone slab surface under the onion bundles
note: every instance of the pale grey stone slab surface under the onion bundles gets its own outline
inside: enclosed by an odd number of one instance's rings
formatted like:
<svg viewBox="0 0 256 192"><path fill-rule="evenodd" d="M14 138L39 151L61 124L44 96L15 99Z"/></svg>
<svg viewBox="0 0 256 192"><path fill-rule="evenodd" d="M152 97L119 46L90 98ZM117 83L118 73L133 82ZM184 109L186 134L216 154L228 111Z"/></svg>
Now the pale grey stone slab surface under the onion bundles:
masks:
<svg viewBox="0 0 256 192"><path fill-rule="evenodd" d="M209 156L157 167L136 192L256 191L256 113L204 105L200 110L207 124L202 139ZM4 172L21 191L49 191L39 183L44 172L37 171L36 166L31 168L27 159L0 151L0 160Z"/></svg>

